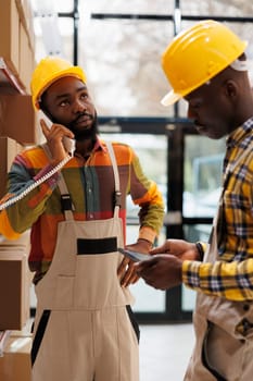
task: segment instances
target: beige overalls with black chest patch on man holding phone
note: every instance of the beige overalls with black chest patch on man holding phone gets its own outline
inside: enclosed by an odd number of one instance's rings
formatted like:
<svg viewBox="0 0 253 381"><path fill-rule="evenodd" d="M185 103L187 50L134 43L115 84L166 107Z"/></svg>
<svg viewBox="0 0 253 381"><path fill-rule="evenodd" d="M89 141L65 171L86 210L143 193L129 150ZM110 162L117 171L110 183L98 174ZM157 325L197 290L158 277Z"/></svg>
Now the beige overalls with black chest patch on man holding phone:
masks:
<svg viewBox="0 0 253 381"><path fill-rule="evenodd" d="M109 152L118 190L111 145ZM63 176L60 190L68 193ZM117 247L124 246L118 210L93 221L75 221L66 210L59 223L52 263L35 288L33 381L139 380L132 296L117 278Z"/></svg>

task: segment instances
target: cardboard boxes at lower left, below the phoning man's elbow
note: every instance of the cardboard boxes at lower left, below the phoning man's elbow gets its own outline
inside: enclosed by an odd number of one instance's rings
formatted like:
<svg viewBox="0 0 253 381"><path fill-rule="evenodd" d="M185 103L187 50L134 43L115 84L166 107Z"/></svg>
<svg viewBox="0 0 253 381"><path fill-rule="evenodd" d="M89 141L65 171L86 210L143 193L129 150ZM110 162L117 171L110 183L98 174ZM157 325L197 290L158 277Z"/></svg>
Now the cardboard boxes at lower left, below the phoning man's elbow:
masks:
<svg viewBox="0 0 253 381"><path fill-rule="evenodd" d="M4 381L31 379L28 250L28 231L15 242L1 237L0 331L8 331L0 354L0 380Z"/></svg>

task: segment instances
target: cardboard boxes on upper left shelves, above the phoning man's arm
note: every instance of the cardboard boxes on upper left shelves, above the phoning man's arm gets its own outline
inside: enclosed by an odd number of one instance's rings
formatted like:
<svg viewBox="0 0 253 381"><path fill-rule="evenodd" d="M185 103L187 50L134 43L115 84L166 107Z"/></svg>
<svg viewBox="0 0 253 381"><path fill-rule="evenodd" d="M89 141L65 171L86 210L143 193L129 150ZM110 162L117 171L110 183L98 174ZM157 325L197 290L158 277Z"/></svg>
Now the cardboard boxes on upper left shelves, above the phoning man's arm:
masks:
<svg viewBox="0 0 253 381"><path fill-rule="evenodd" d="M29 0L0 0L0 197L7 172L24 146L38 142L29 82L35 67L35 35Z"/></svg>

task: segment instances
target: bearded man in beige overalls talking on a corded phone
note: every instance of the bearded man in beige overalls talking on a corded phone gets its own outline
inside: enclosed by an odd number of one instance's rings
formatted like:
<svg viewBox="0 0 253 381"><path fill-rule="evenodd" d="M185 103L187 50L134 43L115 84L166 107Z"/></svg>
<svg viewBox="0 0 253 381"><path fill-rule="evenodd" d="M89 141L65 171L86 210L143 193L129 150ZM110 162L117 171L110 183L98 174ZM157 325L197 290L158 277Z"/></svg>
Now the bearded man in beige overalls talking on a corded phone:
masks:
<svg viewBox="0 0 253 381"><path fill-rule="evenodd" d="M130 195L140 208L140 229L128 246L150 250L163 224L161 192L129 146L99 137L80 67L41 60L31 95L51 125L42 119L47 144L13 162L0 233L16 238L31 228L33 381L138 381L139 330L128 290L138 276L118 248L126 243Z"/></svg>

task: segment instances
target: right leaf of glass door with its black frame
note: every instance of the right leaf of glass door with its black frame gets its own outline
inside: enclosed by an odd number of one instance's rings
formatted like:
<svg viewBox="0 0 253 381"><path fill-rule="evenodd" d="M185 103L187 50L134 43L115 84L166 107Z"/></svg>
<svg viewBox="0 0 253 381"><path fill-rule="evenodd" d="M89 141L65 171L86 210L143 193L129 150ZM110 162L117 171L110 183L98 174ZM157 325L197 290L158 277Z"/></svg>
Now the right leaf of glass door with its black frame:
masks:
<svg viewBox="0 0 253 381"><path fill-rule="evenodd" d="M170 125L167 237L208 241L220 192L224 152L225 139L201 136L190 123ZM195 295L185 286L168 291L169 319L190 320Z"/></svg>

